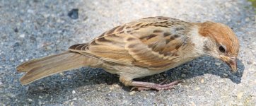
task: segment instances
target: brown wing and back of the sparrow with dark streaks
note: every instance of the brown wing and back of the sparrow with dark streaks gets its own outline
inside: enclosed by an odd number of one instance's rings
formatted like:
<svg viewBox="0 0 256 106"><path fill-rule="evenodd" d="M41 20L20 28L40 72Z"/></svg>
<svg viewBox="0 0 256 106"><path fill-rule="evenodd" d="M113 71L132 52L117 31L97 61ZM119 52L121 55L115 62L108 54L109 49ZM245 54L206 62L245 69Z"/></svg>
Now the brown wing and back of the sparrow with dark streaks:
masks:
<svg viewBox="0 0 256 106"><path fill-rule="evenodd" d="M174 18L152 17L119 25L88 44L69 50L117 64L165 69L179 57L187 42L187 22Z"/></svg>

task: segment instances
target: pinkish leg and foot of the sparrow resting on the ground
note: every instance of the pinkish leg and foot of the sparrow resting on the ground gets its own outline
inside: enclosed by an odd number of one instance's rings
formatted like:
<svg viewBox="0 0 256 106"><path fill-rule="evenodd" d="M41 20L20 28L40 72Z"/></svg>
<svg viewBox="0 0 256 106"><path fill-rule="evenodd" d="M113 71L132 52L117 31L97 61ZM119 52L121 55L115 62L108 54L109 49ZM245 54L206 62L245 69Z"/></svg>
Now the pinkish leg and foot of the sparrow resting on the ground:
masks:
<svg viewBox="0 0 256 106"><path fill-rule="evenodd" d="M134 86L131 90L137 89L137 90L168 90L173 88L175 85L180 83L180 81L174 81L172 83L168 84L156 84L156 83L147 83L147 82L140 82L140 81L132 81L130 86Z"/></svg>

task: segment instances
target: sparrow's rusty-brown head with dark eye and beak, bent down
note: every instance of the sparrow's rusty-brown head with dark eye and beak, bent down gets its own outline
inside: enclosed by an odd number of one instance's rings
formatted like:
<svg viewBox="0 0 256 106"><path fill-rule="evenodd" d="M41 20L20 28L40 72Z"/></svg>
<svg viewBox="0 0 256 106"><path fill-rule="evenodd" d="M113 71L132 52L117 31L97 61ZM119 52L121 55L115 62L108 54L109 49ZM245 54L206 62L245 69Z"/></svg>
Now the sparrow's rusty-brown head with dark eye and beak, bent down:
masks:
<svg viewBox="0 0 256 106"><path fill-rule="evenodd" d="M199 34L208 39L204 42L205 54L226 62L235 73L240 46L233 30L222 23L206 21L199 24Z"/></svg>

